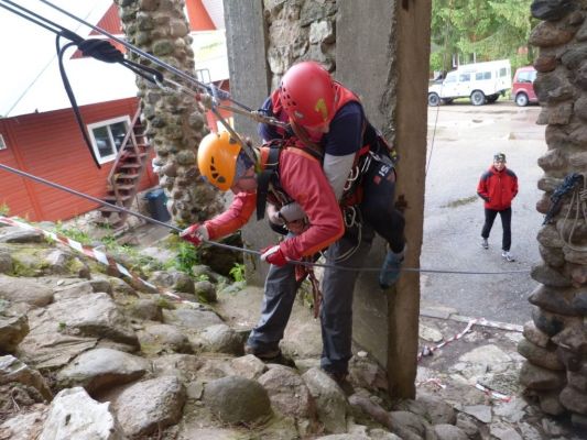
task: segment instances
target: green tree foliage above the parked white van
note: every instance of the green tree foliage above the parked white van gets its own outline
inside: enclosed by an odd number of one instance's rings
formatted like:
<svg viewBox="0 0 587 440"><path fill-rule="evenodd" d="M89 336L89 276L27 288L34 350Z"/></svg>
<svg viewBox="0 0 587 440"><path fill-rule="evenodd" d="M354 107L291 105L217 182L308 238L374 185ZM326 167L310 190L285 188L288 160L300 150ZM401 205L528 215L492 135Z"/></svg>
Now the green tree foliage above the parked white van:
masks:
<svg viewBox="0 0 587 440"><path fill-rule="evenodd" d="M532 0L433 0L431 68L450 70L459 64L510 58L512 66L531 64L528 38L536 21ZM528 52L524 48L528 47Z"/></svg>

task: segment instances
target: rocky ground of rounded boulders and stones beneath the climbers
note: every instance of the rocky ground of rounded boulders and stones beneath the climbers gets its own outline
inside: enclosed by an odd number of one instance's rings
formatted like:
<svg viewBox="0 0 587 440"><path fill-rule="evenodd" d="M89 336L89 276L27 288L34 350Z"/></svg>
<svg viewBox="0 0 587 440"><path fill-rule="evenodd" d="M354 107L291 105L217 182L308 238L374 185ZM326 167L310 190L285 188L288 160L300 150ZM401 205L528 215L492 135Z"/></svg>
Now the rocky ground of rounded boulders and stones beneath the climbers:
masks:
<svg viewBox="0 0 587 440"><path fill-rule="evenodd" d="M520 327L423 310L416 399L391 402L360 348L350 386L319 370L302 300L282 344L290 366L243 355L261 289L206 266L165 270L176 255L163 243L124 261L150 287L0 226L0 440L586 438L521 395Z"/></svg>

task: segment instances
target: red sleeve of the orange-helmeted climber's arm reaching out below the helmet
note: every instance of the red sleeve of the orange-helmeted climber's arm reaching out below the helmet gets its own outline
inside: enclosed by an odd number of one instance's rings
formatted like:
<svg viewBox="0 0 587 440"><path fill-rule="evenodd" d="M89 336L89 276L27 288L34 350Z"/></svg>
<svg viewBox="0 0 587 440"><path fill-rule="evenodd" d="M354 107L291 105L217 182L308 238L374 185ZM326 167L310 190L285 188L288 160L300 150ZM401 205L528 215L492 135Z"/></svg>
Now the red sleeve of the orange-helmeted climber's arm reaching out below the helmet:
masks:
<svg viewBox="0 0 587 440"><path fill-rule="evenodd" d="M204 224L211 240L228 235L242 228L257 206L257 194L239 193L228 209Z"/></svg>

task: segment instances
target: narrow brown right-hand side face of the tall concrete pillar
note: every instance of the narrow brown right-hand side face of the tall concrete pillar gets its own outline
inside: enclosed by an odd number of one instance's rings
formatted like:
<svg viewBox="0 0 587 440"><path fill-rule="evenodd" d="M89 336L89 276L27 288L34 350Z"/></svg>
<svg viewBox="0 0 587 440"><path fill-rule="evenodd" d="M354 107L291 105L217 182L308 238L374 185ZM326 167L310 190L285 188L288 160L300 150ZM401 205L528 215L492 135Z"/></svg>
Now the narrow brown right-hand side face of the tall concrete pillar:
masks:
<svg viewBox="0 0 587 440"><path fill-rule="evenodd" d="M395 143L400 152L396 197L406 202L406 267L420 266L424 226L424 184L426 164L426 127L431 2L395 2L396 58ZM389 301L388 380L394 397L415 396L417 330L420 316L420 274L404 273L396 296Z"/></svg>

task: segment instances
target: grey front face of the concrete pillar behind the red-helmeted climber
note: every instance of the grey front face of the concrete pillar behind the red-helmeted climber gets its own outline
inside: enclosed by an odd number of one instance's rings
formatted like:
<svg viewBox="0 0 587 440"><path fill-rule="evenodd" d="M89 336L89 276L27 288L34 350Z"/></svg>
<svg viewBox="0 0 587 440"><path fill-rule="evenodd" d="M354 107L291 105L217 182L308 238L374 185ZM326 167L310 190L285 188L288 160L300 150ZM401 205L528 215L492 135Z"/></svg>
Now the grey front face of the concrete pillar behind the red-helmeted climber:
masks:
<svg viewBox="0 0 587 440"><path fill-rule="evenodd" d="M395 94L389 91L396 88L394 13L393 2L387 0L339 0L336 22L336 79L359 95L370 122L388 139L395 108ZM384 254L384 242L378 238L365 266L381 265ZM383 366L389 348L387 298L378 273L360 274L352 305L354 339Z"/></svg>

